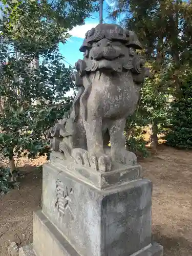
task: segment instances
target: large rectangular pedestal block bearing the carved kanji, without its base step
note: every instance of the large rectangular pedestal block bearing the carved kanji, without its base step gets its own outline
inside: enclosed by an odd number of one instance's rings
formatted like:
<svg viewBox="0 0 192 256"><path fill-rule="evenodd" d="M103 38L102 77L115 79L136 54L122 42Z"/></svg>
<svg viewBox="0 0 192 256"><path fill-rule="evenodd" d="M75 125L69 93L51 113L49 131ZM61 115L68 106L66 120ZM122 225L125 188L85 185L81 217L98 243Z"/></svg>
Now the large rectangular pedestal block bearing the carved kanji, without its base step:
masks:
<svg viewBox="0 0 192 256"><path fill-rule="evenodd" d="M148 180L99 190L46 164L42 191L42 211L80 255L128 256L151 244Z"/></svg>

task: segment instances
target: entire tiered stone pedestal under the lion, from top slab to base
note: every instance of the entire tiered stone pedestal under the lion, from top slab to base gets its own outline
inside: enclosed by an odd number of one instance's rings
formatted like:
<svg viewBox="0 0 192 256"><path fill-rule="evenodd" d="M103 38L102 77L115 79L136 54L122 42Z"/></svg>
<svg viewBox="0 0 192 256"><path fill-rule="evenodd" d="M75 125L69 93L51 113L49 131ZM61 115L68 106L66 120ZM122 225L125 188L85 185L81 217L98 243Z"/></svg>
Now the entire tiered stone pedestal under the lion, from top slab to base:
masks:
<svg viewBox="0 0 192 256"><path fill-rule="evenodd" d="M152 183L140 178L140 166L100 173L52 159L43 168L42 193L33 250L19 255L163 255L151 240Z"/></svg>

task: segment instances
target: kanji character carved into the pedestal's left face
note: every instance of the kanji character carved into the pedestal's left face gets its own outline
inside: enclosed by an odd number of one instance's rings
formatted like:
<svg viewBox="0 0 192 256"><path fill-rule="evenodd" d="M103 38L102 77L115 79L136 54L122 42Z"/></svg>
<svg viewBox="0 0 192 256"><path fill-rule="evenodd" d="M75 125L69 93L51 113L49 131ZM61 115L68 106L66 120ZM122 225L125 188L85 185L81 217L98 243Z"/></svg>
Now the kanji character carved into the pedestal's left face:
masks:
<svg viewBox="0 0 192 256"><path fill-rule="evenodd" d="M57 179L56 181L56 203L55 207L58 210L60 218L66 215L66 212L69 211L71 219L74 220L75 216L71 209L72 198L71 195L73 194L73 189L65 187L64 184Z"/></svg>

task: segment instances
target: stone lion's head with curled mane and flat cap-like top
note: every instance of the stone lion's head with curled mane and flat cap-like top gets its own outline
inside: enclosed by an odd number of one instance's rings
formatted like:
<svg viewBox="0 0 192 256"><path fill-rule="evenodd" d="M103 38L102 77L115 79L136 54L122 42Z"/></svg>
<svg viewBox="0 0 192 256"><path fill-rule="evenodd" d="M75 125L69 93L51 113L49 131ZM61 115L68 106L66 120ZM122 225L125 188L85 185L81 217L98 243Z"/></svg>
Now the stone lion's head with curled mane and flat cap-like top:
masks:
<svg viewBox="0 0 192 256"><path fill-rule="evenodd" d="M137 78L137 83L142 83L148 70L144 68L144 58L137 53L141 49L142 46L133 31L116 24L99 24L86 33L80 47L84 57L75 66L80 76L98 70L130 70Z"/></svg>

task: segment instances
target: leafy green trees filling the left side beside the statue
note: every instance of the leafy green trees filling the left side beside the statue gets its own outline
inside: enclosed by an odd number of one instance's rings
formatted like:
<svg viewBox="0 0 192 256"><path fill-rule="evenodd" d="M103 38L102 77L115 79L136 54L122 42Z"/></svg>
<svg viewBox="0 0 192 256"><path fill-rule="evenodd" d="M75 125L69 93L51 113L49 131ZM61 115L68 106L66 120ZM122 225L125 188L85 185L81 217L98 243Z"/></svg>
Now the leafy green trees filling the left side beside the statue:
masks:
<svg viewBox="0 0 192 256"><path fill-rule="evenodd" d="M0 152L15 156L49 154L46 130L69 111L73 97L71 68L66 68L58 43L93 11L92 1L3 1L0 49ZM5 169L2 169L4 172ZM6 191L7 170L0 190ZM2 182L2 183L1 183Z"/></svg>

